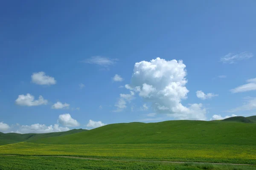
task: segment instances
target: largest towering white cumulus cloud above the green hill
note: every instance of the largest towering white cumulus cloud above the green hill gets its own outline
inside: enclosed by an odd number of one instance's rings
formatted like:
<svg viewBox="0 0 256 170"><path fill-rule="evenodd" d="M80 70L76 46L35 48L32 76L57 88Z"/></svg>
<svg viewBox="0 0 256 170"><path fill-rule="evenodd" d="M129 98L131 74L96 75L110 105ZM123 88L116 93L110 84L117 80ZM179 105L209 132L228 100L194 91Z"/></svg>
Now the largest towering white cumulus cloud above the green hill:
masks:
<svg viewBox="0 0 256 170"><path fill-rule="evenodd" d="M206 119L206 109L202 104L181 104L189 92L186 88L186 65L175 59L152 59L134 65L131 89L136 89L145 101L151 102L155 113L165 113L176 119Z"/></svg>

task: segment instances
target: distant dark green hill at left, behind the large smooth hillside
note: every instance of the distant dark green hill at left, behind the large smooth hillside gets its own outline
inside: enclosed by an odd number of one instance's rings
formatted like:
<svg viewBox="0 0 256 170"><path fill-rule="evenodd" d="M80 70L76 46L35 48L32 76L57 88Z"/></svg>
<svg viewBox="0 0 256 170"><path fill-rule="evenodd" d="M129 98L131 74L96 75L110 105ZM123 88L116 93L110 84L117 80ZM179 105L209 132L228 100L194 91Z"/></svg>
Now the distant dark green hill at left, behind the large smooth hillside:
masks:
<svg viewBox="0 0 256 170"><path fill-rule="evenodd" d="M83 132L85 129L73 129L65 132L52 132L52 133L1 133L0 132L0 145L12 144L17 142L26 142L31 140L43 139L54 136L65 136L73 133Z"/></svg>

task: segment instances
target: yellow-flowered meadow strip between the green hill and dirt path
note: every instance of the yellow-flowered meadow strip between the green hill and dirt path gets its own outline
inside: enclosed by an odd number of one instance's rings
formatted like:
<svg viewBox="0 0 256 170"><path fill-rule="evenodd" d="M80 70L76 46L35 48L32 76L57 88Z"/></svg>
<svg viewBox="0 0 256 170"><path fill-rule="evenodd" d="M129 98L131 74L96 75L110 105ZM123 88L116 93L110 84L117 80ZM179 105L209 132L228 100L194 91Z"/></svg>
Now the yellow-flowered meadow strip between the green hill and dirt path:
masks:
<svg viewBox="0 0 256 170"><path fill-rule="evenodd" d="M255 145L232 144L35 144L22 142L0 146L0 154L256 164Z"/></svg>

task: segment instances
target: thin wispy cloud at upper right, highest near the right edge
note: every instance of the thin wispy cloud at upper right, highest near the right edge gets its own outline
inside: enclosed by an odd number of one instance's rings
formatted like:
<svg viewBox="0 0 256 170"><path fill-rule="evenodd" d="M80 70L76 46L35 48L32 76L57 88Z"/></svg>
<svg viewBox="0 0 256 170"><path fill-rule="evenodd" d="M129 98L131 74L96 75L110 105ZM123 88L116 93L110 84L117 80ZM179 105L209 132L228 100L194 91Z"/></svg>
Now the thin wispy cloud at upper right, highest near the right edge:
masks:
<svg viewBox="0 0 256 170"><path fill-rule="evenodd" d="M224 57L221 57L220 61L223 62L223 63L233 64L233 63L236 63L240 60L249 59L251 57L253 57L252 53L248 53L248 52L244 51L240 54L229 53L229 54L225 55Z"/></svg>

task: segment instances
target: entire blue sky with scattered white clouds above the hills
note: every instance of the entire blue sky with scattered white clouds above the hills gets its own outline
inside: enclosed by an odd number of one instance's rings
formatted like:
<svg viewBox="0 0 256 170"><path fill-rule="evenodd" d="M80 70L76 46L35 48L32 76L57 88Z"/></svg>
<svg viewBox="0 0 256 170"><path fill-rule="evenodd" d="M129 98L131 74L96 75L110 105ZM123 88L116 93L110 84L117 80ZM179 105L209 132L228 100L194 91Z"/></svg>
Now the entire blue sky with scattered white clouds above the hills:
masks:
<svg viewBox="0 0 256 170"><path fill-rule="evenodd" d="M256 115L254 0L9 0L0 132Z"/></svg>

